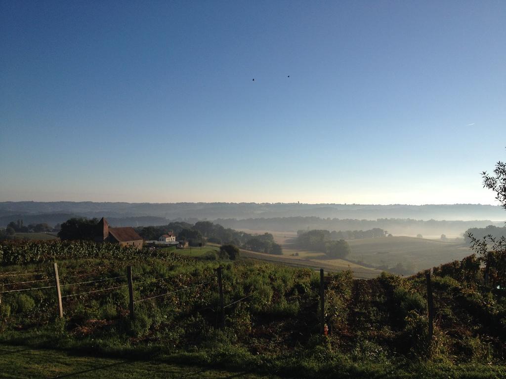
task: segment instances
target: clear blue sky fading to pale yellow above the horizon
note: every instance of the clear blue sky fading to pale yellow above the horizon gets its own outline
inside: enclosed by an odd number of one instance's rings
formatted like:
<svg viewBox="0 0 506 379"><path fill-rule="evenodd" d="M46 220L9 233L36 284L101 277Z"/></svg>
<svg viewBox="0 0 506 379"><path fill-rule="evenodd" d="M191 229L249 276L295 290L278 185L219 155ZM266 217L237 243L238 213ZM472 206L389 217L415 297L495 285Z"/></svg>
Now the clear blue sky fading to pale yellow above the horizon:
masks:
<svg viewBox="0 0 506 379"><path fill-rule="evenodd" d="M0 7L0 201L494 204L502 1Z"/></svg>

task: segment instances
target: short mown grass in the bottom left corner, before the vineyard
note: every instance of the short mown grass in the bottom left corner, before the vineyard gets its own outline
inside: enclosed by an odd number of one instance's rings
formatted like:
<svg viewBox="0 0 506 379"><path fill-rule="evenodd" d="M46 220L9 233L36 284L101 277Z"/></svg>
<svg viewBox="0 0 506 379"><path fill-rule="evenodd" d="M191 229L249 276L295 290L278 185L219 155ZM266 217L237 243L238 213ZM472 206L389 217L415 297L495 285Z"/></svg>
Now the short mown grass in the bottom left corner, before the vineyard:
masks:
<svg viewBox="0 0 506 379"><path fill-rule="evenodd" d="M70 355L63 351L0 345L0 377L9 379L150 379L157 378L243 378L267 376L230 372L196 366L163 363L160 360L135 361ZM274 376L268 376L274 377Z"/></svg>

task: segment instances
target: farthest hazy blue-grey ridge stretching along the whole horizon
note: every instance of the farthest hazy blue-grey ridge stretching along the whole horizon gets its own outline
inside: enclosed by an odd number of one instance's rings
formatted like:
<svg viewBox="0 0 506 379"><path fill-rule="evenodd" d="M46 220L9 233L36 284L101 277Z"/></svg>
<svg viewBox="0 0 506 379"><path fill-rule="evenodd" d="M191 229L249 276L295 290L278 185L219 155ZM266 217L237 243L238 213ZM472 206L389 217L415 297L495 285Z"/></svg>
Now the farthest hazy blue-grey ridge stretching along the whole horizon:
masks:
<svg viewBox="0 0 506 379"><path fill-rule="evenodd" d="M115 218L121 224L129 222L159 224L165 220L216 220L275 217L320 217L376 220L378 218L410 218L415 220L506 220L499 206L480 204L442 205L362 205L362 204L297 204L297 203L94 203L94 202L0 202L0 224L23 216L40 217L52 214L52 219L65 221L64 215ZM140 221L138 217L146 217ZM162 222L163 219L163 222ZM7 221L7 222L8 222ZM53 221L40 221L55 223Z"/></svg>

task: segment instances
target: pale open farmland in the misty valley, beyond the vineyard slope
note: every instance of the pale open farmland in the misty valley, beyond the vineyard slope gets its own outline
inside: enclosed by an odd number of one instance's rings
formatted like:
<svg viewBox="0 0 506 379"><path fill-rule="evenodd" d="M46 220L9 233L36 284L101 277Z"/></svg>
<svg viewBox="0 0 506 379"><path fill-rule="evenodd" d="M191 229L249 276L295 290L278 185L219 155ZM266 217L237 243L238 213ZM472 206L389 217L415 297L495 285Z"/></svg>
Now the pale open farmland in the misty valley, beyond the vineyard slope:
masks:
<svg viewBox="0 0 506 379"><path fill-rule="evenodd" d="M420 239L407 236L394 236L386 238L371 238L362 240L347 240L352 253L347 259L326 259L321 252L297 249L293 246L293 239L297 238L296 232L280 232L269 230L240 229L248 233L271 233L274 241L283 248L282 256L245 252L252 258L279 261L291 265L304 265L306 267L322 267L328 270L351 269L356 277L370 277L378 274L381 269L369 266L385 268L402 264L409 267L412 272L437 266L454 260L460 260L472 252L469 247L461 242L444 242L441 240ZM254 256L253 254L257 254ZM297 254L297 256L295 256ZM355 262L355 263L352 263ZM362 263L365 265L362 265Z"/></svg>

